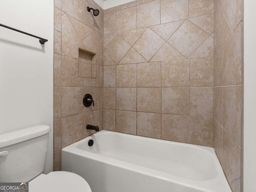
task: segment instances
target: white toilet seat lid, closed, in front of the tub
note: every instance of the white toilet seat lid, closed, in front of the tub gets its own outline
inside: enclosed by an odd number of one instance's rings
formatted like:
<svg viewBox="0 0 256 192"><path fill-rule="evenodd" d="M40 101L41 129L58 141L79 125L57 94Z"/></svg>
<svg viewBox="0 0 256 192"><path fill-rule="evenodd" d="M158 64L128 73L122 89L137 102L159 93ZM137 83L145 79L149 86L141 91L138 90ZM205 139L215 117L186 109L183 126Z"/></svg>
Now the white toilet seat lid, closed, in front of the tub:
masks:
<svg viewBox="0 0 256 192"><path fill-rule="evenodd" d="M40 175L29 182L30 192L92 192L81 176L65 171Z"/></svg>

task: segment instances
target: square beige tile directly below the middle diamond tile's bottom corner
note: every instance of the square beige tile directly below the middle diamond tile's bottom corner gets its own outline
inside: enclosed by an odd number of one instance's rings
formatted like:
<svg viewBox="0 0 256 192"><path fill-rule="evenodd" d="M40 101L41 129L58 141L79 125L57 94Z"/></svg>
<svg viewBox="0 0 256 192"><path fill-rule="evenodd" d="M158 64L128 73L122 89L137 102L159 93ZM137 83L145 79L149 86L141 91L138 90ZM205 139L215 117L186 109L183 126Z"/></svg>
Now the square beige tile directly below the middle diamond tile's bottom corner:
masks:
<svg viewBox="0 0 256 192"><path fill-rule="evenodd" d="M161 62L137 64L138 87L161 86Z"/></svg>

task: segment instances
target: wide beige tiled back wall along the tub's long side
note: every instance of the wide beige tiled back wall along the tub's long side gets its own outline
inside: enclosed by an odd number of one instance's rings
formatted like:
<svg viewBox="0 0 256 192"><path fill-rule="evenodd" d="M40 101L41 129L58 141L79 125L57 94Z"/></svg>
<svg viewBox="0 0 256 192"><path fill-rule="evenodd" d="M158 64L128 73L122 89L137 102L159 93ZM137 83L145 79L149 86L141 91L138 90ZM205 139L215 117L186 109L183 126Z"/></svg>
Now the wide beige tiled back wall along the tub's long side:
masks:
<svg viewBox="0 0 256 192"><path fill-rule="evenodd" d="M104 129L213 146L214 0L104 10Z"/></svg>

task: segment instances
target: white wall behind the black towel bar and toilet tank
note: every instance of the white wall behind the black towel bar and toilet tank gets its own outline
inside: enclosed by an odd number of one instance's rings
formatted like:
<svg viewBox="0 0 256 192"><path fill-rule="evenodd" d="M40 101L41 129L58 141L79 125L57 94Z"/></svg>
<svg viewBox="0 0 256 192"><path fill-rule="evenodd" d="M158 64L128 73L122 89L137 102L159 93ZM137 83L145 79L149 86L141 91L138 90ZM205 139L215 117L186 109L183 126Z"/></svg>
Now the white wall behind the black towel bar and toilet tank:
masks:
<svg viewBox="0 0 256 192"><path fill-rule="evenodd" d="M53 128L53 0L0 0L0 134L39 124ZM45 173L53 167L50 133Z"/></svg>

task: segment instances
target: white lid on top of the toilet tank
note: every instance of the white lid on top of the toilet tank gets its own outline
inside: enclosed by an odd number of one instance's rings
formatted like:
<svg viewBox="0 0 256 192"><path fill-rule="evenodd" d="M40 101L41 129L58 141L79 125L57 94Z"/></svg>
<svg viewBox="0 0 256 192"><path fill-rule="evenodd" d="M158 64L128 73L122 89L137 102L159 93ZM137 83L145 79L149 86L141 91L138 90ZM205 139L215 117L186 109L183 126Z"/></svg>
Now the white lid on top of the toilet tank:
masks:
<svg viewBox="0 0 256 192"><path fill-rule="evenodd" d="M38 125L0 135L0 148L24 142L50 132L50 126Z"/></svg>

